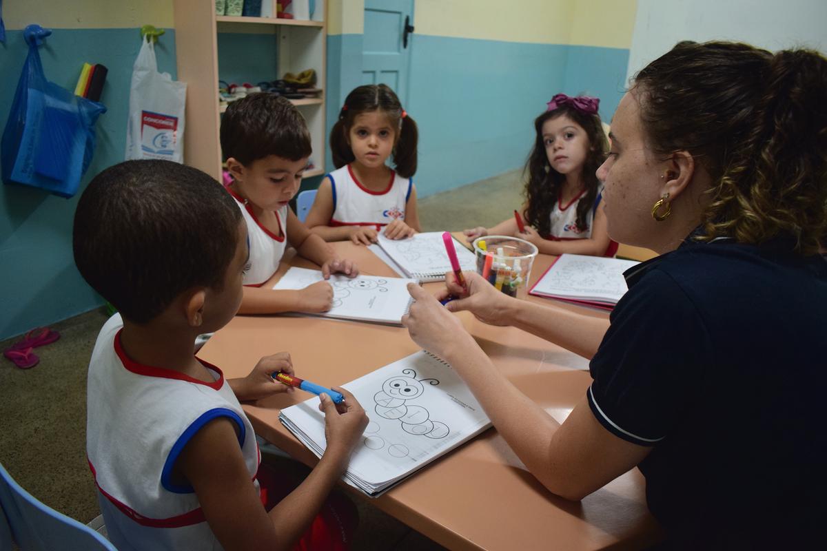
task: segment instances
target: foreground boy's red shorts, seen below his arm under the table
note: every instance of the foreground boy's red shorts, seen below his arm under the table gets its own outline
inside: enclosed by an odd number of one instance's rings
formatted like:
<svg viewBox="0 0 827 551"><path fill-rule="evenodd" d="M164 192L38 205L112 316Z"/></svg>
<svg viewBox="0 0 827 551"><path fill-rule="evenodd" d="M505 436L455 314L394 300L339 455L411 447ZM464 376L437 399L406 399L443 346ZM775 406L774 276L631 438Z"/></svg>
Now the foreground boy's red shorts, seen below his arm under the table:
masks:
<svg viewBox="0 0 827 551"><path fill-rule="evenodd" d="M301 482L301 480L294 480L279 473L266 463L261 463L256 477L267 496L265 503L267 511L293 492ZM351 547L358 523L356 506L347 497L333 492L327 497L322 511L319 511L313 519L313 524L293 549L294 551L316 551L317 549L345 551Z"/></svg>

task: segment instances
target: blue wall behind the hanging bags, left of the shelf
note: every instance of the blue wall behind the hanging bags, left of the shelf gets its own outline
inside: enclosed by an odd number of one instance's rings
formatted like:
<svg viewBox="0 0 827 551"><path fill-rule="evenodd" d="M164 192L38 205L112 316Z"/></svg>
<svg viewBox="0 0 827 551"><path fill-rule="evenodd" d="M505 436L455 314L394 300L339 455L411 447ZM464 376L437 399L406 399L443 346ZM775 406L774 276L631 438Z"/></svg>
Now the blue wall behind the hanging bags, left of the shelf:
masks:
<svg viewBox="0 0 827 551"><path fill-rule="evenodd" d="M0 186L0 339L53 323L103 304L84 282L72 258L72 221L80 192L94 174L123 160L129 83L141 48L137 29L55 29L41 46L47 78L74 90L85 62L109 69L98 119L98 147L75 197L55 197L35 188ZM5 128L17 79L26 59L22 31L7 31L0 45L0 124ZM174 31L155 48L161 71L175 75Z"/></svg>

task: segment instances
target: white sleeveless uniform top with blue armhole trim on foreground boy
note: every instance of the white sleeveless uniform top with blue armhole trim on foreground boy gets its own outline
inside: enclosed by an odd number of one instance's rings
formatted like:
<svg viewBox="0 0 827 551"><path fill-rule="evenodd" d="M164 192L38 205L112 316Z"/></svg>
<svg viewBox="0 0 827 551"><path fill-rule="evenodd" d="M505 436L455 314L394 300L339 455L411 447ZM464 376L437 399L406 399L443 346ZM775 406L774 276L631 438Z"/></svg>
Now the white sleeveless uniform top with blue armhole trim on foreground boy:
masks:
<svg viewBox="0 0 827 551"><path fill-rule="evenodd" d="M261 456L250 420L220 369L202 361L215 377L202 382L136 363L122 348L122 326L119 314L103 325L87 383L86 453L109 539L121 551L222 549L193 488L171 473L189 439L226 417L258 489Z"/></svg>

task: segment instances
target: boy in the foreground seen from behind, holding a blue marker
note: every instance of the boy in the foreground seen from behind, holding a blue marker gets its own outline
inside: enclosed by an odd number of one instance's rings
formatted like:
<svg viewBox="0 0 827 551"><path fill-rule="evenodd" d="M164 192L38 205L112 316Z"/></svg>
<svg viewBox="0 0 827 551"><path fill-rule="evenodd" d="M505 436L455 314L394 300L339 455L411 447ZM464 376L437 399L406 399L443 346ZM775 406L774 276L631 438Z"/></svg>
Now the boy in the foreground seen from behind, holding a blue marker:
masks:
<svg viewBox="0 0 827 551"><path fill-rule="evenodd" d="M98 335L87 396L89 467L118 549L342 548L347 528L317 513L366 426L358 402L323 397L333 445L268 512L239 400L284 392L271 375L293 373L289 354L236 379L193 354L241 303L248 250L233 203L197 169L144 160L98 174L75 212L75 263L121 312Z"/></svg>

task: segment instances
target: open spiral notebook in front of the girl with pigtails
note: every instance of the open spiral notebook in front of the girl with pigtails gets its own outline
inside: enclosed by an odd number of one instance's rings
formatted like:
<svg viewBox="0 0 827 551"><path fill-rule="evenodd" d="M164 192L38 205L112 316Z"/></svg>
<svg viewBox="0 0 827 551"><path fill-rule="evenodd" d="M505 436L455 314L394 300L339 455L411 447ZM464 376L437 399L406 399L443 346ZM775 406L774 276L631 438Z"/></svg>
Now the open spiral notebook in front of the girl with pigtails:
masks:
<svg viewBox="0 0 827 551"><path fill-rule="evenodd" d="M459 241L454 243L457 259L463 270L476 270L476 256ZM443 281L445 273L451 271L451 262L445 252L442 231L416 234L404 240L390 240L379 235L379 245L390 259L409 278L420 281Z"/></svg>

